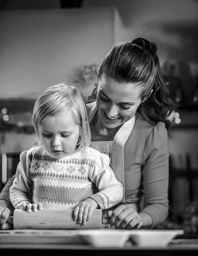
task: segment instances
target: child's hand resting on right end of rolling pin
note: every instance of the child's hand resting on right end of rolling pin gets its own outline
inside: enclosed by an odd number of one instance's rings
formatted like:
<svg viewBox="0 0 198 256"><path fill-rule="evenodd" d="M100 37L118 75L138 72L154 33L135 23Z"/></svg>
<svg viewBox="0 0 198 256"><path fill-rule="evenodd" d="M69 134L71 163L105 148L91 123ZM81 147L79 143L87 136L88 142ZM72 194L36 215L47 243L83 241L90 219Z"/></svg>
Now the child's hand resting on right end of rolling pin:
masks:
<svg viewBox="0 0 198 256"><path fill-rule="evenodd" d="M94 199L87 198L85 201L78 204L75 208L74 219L77 220L78 218L78 222L85 225L86 221L89 221L93 210L97 209L97 207L98 203Z"/></svg>

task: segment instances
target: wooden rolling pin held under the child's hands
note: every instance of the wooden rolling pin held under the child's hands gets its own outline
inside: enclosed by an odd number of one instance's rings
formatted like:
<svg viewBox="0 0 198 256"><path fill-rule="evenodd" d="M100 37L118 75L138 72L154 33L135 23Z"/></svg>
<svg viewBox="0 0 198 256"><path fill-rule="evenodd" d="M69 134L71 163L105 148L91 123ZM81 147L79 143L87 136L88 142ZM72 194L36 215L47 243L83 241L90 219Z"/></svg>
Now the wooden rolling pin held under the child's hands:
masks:
<svg viewBox="0 0 198 256"><path fill-rule="evenodd" d="M73 219L74 209L43 209L37 212L27 212L23 209L15 209L13 217L7 222L13 224L14 230L78 230L101 229L102 210L95 209L85 225Z"/></svg>

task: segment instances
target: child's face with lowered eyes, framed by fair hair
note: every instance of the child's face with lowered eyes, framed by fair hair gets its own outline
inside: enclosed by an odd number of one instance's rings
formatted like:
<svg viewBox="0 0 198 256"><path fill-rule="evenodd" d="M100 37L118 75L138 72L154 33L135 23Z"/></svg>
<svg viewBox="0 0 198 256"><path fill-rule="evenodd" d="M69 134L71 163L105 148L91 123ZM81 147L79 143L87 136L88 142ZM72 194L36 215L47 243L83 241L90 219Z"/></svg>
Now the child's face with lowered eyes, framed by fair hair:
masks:
<svg viewBox="0 0 198 256"><path fill-rule="evenodd" d="M80 128L68 112L46 117L39 127L44 148L59 159L75 153L79 135Z"/></svg>

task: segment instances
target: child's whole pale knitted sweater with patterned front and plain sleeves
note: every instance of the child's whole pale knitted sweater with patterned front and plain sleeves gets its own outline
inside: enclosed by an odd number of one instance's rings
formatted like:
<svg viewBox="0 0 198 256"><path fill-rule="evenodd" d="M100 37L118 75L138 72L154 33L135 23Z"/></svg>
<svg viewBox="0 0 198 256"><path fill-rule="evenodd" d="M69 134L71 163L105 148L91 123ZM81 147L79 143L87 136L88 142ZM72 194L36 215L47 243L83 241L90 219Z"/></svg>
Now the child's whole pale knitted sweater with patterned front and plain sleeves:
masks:
<svg viewBox="0 0 198 256"><path fill-rule="evenodd" d="M94 184L98 193L93 194ZM42 203L45 209L74 209L86 198L94 199L101 209L118 204L123 186L109 167L109 157L93 148L79 150L57 159L43 146L20 154L11 203L16 209L23 202Z"/></svg>

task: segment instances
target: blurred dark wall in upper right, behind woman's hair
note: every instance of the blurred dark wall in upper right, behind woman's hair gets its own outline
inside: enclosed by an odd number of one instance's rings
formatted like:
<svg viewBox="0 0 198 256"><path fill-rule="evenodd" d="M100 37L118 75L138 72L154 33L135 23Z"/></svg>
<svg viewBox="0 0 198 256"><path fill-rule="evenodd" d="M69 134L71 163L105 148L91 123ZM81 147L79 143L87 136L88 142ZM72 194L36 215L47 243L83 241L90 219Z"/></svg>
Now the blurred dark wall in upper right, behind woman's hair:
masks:
<svg viewBox="0 0 198 256"><path fill-rule="evenodd" d="M154 41L162 61L198 63L197 0L84 0L83 8L114 6L126 26L128 39Z"/></svg>

